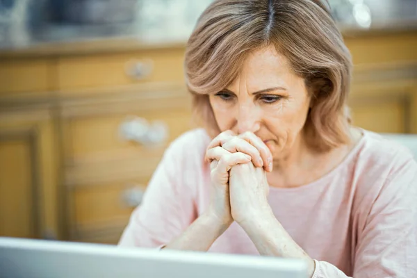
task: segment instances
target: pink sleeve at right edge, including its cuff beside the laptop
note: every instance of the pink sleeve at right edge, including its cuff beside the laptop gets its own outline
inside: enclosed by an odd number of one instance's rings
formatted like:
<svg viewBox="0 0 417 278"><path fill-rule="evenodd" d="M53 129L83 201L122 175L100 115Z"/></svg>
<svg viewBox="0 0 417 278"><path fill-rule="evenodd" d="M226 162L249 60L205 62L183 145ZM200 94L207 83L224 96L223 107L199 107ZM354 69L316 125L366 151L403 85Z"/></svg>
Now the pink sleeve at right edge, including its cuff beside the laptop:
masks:
<svg viewBox="0 0 417 278"><path fill-rule="evenodd" d="M358 232L354 278L417 277L417 163L409 159L393 170L366 211ZM313 278L347 277L316 261Z"/></svg>

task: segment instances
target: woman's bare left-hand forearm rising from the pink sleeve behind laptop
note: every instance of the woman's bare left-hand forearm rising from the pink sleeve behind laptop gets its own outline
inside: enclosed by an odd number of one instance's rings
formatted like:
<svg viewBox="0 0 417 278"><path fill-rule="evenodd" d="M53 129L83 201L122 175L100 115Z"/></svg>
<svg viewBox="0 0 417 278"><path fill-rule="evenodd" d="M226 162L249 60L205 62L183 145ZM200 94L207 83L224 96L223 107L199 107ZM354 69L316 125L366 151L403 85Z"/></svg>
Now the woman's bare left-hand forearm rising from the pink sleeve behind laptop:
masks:
<svg viewBox="0 0 417 278"><path fill-rule="evenodd" d="M211 213L199 216L178 238L167 244L165 249L207 251L230 224L222 224Z"/></svg>

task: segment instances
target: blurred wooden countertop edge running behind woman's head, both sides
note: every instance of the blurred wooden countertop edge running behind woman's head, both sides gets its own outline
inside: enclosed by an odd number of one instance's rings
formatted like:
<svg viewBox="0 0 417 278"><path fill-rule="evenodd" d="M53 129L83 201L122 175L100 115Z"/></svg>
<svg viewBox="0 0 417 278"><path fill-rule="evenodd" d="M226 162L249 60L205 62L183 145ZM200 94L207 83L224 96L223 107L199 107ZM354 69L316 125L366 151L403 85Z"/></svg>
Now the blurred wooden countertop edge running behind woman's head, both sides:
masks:
<svg viewBox="0 0 417 278"><path fill-rule="evenodd" d="M339 26L346 39L393 35L400 33L416 33L417 19L407 22L390 22L389 24L373 25L371 28L356 28ZM0 58L13 57L40 57L40 56L67 56L88 55L109 52L124 52L149 49L185 48L187 38L183 35L177 38L167 38L165 35L115 35L91 38L67 38L65 40L49 41L47 39L24 43L0 44Z"/></svg>

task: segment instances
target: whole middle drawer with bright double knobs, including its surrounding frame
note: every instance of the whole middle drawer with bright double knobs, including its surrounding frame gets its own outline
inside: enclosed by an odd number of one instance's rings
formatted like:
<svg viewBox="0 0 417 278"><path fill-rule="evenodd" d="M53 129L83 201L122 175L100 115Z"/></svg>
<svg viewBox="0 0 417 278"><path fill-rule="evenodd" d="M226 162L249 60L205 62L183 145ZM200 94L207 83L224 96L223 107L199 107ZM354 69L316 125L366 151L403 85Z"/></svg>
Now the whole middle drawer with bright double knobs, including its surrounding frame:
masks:
<svg viewBox="0 0 417 278"><path fill-rule="evenodd" d="M148 177L167 145L193 128L183 88L116 95L64 104L67 185L120 181L139 172Z"/></svg>

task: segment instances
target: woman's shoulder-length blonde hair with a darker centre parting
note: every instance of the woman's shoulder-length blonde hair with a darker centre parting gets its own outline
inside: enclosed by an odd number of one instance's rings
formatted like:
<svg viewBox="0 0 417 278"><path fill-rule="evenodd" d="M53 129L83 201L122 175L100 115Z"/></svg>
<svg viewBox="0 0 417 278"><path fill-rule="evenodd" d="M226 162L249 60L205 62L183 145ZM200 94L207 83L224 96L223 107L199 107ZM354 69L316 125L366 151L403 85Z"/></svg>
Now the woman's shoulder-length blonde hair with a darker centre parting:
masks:
<svg viewBox="0 0 417 278"><path fill-rule="evenodd" d="M217 0L206 8L188 40L185 72L194 111L208 133L220 132L208 95L236 79L247 54L270 45L311 95L304 124L309 145L326 151L349 142L352 60L320 0Z"/></svg>

